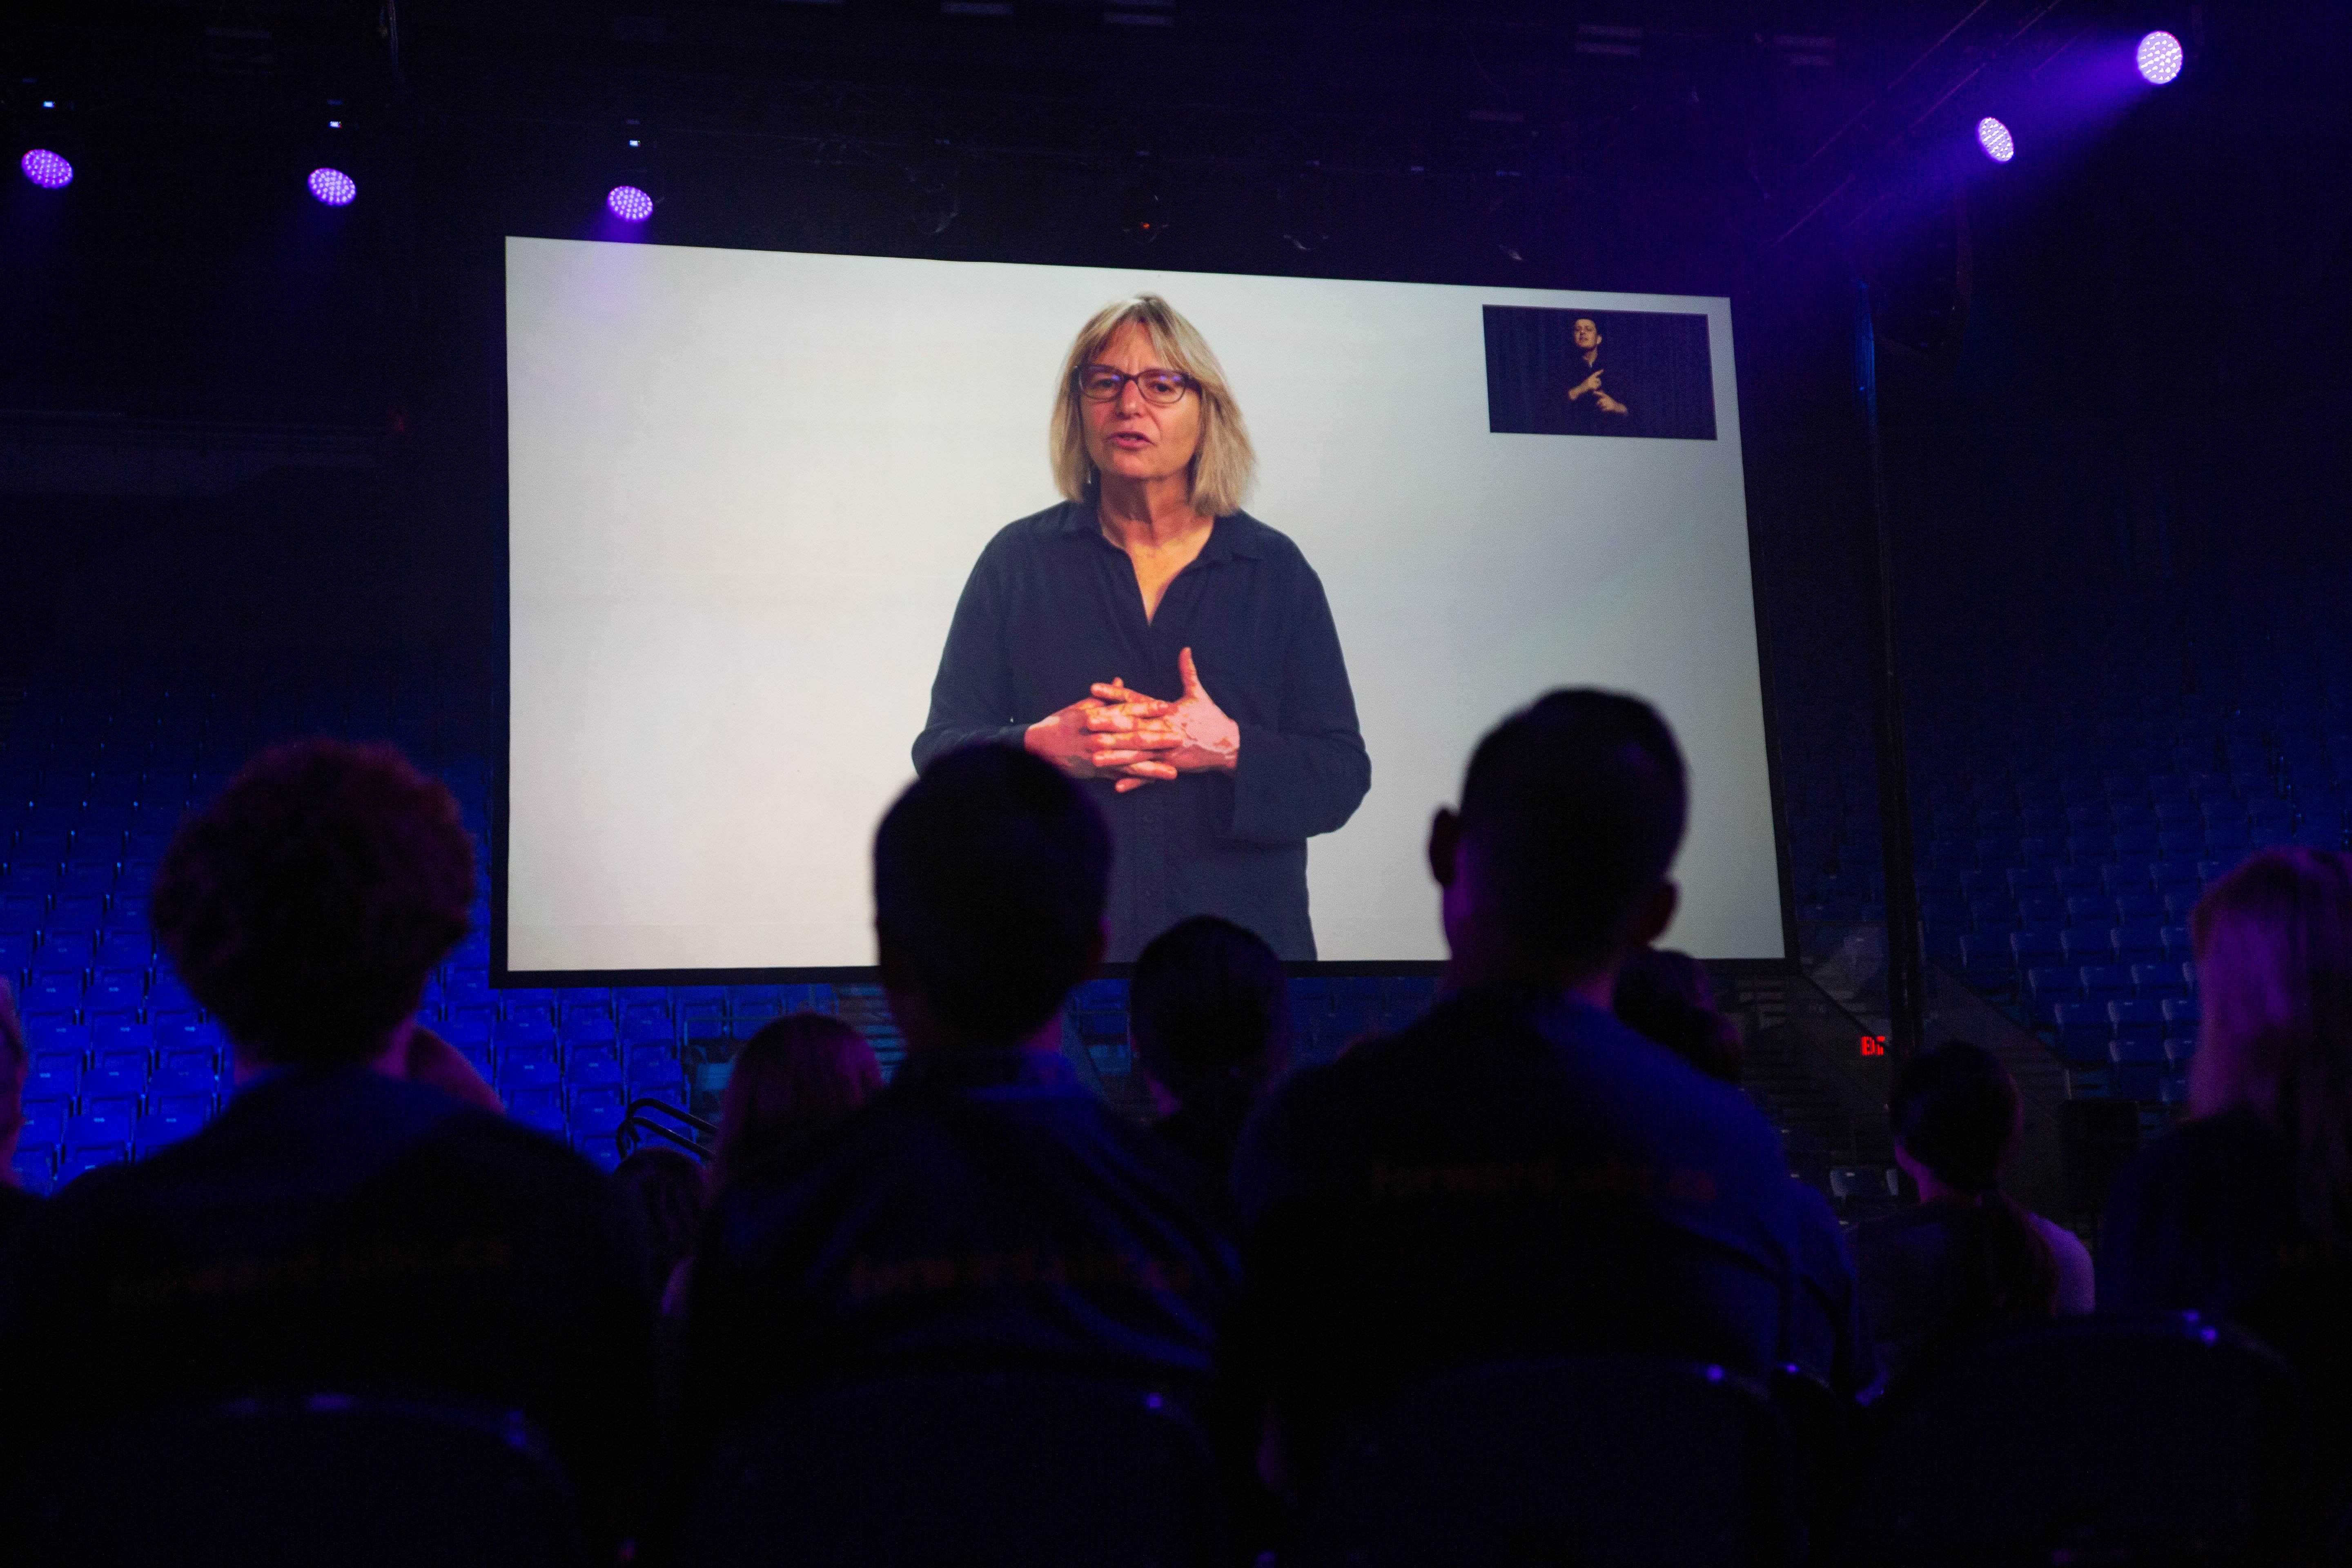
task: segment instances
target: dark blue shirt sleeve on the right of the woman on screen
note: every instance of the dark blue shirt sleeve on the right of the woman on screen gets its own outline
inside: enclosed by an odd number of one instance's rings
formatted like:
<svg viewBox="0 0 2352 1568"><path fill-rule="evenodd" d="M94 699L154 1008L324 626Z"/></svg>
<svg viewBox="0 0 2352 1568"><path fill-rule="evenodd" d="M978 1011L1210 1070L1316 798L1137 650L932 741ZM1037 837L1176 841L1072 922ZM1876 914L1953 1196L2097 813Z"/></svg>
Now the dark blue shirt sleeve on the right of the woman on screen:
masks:
<svg viewBox="0 0 2352 1568"><path fill-rule="evenodd" d="M1355 689L1338 649L1331 602L1305 562L1291 590L1282 654L1282 724L1242 724L1228 837L1284 844L1334 832L1371 788L1371 757L1355 726ZM936 712L936 698L934 698Z"/></svg>

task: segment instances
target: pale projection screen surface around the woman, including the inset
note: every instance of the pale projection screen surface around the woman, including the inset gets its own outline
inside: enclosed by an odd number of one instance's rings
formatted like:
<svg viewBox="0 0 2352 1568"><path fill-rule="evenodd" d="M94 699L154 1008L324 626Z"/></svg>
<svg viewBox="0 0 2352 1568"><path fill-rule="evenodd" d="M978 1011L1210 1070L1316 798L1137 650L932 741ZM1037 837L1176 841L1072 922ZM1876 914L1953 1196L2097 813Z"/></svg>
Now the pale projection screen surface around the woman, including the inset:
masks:
<svg viewBox="0 0 2352 1568"><path fill-rule="evenodd" d="M873 964L873 827L957 595L1058 501L1063 355L1143 289L1223 360L1247 510L1355 689L1371 788L1310 839L1317 957L1444 957L1430 811L1583 684L1689 757L1665 940L1785 957L1729 301L508 240L508 973ZM1555 428L1536 362L1578 308L1628 435Z"/></svg>

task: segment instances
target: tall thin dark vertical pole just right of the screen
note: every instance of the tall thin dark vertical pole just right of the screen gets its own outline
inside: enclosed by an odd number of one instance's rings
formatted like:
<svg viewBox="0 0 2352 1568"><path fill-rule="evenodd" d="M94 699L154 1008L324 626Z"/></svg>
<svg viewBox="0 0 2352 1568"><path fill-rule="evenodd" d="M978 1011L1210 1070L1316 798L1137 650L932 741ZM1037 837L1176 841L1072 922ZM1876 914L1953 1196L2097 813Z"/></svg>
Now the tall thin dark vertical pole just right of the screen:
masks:
<svg viewBox="0 0 2352 1568"><path fill-rule="evenodd" d="M1879 764L1879 863L1886 879L1886 1056L1900 1065L1924 1048L1926 952L1919 933L1919 879L1912 867L1910 771L1903 764L1903 679L1896 670L1896 538L1886 515L1886 454L1879 442L1879 343L1870 284L1853 277L1853 395L1870 451L1872 590L1870 710Z"/></svg>

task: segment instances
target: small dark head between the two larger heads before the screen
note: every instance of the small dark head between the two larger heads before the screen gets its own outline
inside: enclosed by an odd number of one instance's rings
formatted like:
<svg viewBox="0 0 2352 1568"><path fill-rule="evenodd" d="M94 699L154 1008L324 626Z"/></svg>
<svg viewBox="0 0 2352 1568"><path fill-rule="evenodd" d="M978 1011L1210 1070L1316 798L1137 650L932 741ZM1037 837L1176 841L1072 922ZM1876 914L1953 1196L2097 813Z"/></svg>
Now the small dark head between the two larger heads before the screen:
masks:
<svg viewBox="0 0 2352 1568"><path fill-rule="evenodd" d="M1178 1103L1247 1100L1289 1060L1289 976L1254 931L1195 914L1136 954L1127 1020L1143 1070Z"/></svg>

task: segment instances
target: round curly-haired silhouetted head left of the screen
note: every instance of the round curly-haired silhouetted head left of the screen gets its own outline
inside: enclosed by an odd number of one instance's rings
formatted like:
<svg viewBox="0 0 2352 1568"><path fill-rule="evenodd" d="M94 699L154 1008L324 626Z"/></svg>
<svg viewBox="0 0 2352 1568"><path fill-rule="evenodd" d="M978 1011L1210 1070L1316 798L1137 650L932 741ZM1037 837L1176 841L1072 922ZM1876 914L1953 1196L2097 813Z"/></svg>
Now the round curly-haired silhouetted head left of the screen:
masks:
<svg viewBox="0 0 2352 1568"><path fill-rule="evenodd" d="M466 936L473 842L456 799L390 745L296 741L245 764L172 839L155 938L238 1053L383 1053Z"/></svg>

